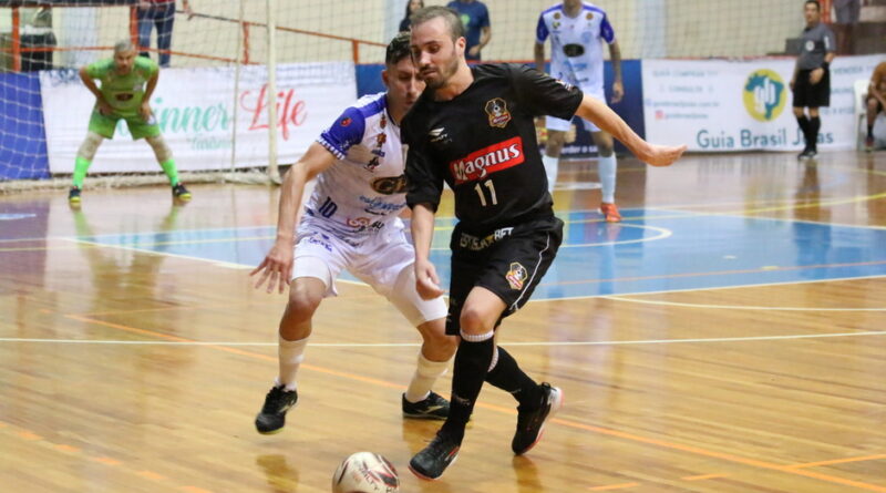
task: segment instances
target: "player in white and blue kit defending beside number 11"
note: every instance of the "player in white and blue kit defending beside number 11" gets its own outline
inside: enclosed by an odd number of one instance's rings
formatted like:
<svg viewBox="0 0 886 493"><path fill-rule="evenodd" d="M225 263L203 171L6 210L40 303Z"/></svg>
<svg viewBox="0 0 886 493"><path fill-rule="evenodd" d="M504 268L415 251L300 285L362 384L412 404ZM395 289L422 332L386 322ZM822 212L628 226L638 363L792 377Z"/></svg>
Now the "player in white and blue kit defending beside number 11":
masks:
<svg viewBox="0 0 886 493"><path fill-rule="evenodd" d="M445 335L442 297L423 300L415 290L415 253L398 217L406 206L399 123L424 82L410 58L409 33L388 45L382 79L387 92L361 97L311 144L288 171L280 195L277 240L253 275L289 302L279 328L279 373L256 417L256 429L280 431L298 401L296 373L320 301L336 295L336 278L348 269L387 297L423 338L412 381L401 399L403 415L445 419L449 402L431 391L446 371L457 340ZM305 213L296 222L305 185L317 177ZM357 327L365 330L367 327Z"/></svg>

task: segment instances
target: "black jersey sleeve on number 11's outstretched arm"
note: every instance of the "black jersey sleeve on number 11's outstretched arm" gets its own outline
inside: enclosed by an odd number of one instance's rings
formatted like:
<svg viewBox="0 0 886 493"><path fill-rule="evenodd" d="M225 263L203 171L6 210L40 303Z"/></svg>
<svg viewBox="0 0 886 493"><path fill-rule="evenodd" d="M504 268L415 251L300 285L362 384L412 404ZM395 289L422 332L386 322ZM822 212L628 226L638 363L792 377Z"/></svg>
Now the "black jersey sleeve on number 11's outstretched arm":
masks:
<svg viewBox="0 0 886 493"><path fill-rule="evenodd" d="M526 65L511 65L517 100L534 116L550 115L569 120L581 104L581 91Z"/></svg>

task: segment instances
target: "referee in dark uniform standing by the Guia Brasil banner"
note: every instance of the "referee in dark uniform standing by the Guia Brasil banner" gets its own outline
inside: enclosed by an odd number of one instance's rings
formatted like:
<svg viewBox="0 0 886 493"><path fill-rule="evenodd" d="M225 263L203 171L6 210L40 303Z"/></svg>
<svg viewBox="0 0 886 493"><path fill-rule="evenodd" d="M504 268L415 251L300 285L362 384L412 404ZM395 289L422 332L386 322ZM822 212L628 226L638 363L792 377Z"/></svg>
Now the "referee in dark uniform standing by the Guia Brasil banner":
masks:
<svg viewBox="0 0 886 493"><path fill-rule="evenodd" d="M834 32L821 22L822 6L817 0L807 0L803 4L806 28L801 35L800 57L791 78L791 90L794 92L794 116L803 131L806 146L797 156L799 160L811 160L818 154L816 142L822 119L818 109L831 105L831 71L828 65L834 60ZM806 116L803 111L808 107Z"/></svg>

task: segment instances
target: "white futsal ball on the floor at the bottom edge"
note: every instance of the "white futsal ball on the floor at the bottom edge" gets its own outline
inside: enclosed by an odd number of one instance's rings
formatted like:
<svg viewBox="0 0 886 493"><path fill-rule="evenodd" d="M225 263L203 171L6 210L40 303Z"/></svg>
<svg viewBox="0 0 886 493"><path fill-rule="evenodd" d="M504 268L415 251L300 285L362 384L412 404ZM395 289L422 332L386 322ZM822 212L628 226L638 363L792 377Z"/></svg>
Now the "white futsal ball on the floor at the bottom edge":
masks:
<svg viewBox="0 0 886 493"><path fill-rule="evenodd" d="M357 452L343 460L332 475L332 493L394 493L400 477L388 459L372 452Z"/></svg>

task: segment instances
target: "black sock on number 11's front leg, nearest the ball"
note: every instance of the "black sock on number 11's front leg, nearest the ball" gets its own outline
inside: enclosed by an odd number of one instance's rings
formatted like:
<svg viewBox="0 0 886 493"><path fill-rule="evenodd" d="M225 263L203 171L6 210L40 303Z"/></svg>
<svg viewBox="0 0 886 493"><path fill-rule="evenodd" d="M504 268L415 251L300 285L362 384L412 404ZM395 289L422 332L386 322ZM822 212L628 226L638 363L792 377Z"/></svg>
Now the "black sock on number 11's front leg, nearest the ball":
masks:
<svg viewBox="0 0 886 493"><path fill-rule="evenodd" d="M464 439L464 427L467 425L467 420L474 411L474 403L480 396L483 380L486 379L494 349L492 332L486 340L471 342L462 338L459 343L452 371L450 415L441 429L441 432L459 443Z"/></svg>

